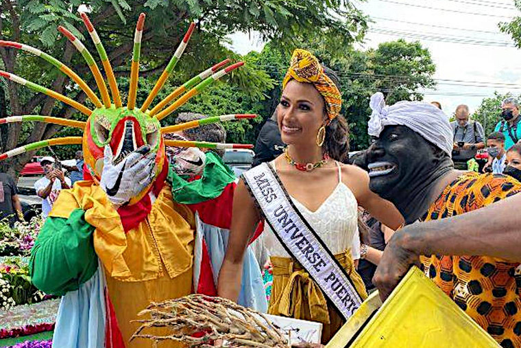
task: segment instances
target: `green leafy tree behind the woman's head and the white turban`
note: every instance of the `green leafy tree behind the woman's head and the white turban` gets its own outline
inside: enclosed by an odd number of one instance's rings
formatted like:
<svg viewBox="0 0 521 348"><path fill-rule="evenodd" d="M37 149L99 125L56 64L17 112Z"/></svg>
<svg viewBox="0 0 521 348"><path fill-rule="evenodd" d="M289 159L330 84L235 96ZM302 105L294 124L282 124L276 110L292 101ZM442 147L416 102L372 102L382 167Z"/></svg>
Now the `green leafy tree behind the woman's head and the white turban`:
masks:
<svg viewBox="0 0 521 348"><path fill-rule="evenodd" d="M295 45L282 49L277 43L265 46L258 60L267 62L265 69L276 81L269 91L269 99L263 102L265 118L275 110L280 100L282 78L289 64L291 51L302 47L313 52L326 66L340 78L343 107L341 113L350 124L350 146L361 150L369 145L367 121L371 110L369 98L377 91L386 95L387 104L399 100L422 100L418 92L421 88L434 86L435 64L428 49L419 42L404 40L382 43L377 49L359 51L352 46L332 52L321 39L322 34L311 36Z"/></svg>

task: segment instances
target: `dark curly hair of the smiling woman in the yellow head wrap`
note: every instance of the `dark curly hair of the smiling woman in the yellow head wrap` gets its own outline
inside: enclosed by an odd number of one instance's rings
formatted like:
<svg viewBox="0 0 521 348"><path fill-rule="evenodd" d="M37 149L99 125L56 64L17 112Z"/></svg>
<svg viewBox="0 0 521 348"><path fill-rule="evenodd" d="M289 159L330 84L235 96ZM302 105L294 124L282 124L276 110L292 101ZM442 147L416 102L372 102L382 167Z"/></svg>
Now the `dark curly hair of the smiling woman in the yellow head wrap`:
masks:
<svg viewBox="0 0 521 348"><path fill-rule="evenodd" d="M328 67L324 67L324 73L335 83L337 89L340 89L340 79L335 73ZM325 105L325 104L324 104ZM327 114L324 106L324 113ZM338 115L335 119L332 119L330 124L326 127L326 139L324 140L324 151L335 161L345 163L349 156L349 125L348 121L342 116Z"/></svg>

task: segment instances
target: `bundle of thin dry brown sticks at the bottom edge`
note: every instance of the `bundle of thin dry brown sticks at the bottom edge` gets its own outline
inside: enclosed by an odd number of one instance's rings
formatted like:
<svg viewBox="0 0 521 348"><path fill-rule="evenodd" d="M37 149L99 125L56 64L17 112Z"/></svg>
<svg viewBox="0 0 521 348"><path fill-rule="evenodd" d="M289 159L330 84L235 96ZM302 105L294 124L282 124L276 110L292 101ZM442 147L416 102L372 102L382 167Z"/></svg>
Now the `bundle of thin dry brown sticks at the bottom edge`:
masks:
<svg viewBox="0 0 521 348"><path fill-rule="evenodd" d="M260 347L287 348L288 340L261 313L244 308L220 297L192 294L162 303L151 303L136 320L141 326L132 335L147 338L157 345L162 340L174 340L186 347ZM166 328L167 334L147 333L151 328Z"/></svg>

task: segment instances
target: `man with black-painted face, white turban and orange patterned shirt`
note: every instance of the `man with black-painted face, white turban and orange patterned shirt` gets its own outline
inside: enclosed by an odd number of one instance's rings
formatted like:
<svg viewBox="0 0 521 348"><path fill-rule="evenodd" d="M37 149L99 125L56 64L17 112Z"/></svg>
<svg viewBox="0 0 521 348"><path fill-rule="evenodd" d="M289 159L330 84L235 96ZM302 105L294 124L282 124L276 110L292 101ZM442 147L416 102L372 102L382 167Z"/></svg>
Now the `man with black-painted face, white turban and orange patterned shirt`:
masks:
<svg viewBox="0 0 521 348"><path fill-rule="evenodd" d="M461 215L521 191L508 176L455 170L450 124L435 106L385 106L377 93L371 107L369 135L376 141L367 151L369 188L393 202L407 224ZM521 347L519 262L455 255L420 260L425 274L498 343Z"/></svg>

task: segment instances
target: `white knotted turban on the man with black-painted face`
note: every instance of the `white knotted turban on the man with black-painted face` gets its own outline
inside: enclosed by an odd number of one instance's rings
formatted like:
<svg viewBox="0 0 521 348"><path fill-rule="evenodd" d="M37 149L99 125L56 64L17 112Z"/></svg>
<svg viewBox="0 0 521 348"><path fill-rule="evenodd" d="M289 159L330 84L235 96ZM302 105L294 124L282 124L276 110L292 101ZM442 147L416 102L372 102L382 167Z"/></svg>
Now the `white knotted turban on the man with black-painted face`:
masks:
<svg viewBox="0 0 521 348"><path fill-rule="evenodd" d="M452 155L452 128L447 115L433 104L426 102L398 102L386 106L383 94L371 96L372 109L368 132L379 137L385 126L406 126L424 137L425 140Z"/></svg>

